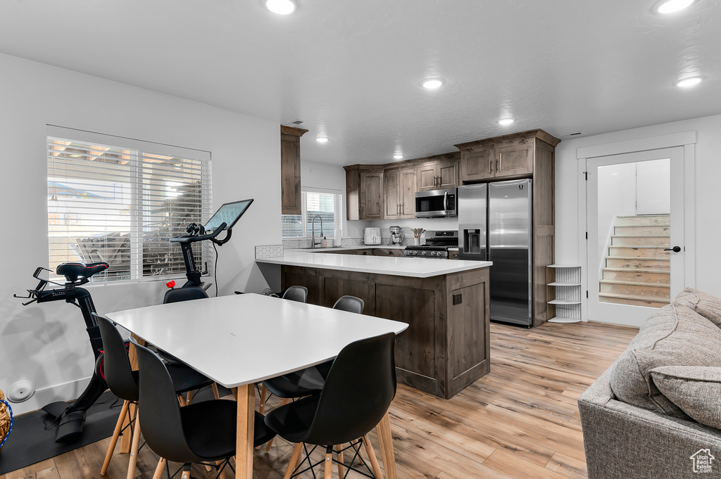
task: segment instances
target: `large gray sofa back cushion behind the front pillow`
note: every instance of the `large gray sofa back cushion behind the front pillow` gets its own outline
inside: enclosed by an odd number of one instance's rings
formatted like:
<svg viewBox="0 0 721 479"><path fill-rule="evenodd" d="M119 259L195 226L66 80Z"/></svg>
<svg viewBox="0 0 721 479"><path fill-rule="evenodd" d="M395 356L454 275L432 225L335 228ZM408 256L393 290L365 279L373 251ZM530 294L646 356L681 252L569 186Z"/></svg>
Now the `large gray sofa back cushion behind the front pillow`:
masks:
<svg viewBox="0 0 721 479"><path fill-rule="evenodd" d="M691 308L664 306L647 319L611 370L611 390L619 400L687 418L650 376L662 366L721 367L721 329Z"/></svg>

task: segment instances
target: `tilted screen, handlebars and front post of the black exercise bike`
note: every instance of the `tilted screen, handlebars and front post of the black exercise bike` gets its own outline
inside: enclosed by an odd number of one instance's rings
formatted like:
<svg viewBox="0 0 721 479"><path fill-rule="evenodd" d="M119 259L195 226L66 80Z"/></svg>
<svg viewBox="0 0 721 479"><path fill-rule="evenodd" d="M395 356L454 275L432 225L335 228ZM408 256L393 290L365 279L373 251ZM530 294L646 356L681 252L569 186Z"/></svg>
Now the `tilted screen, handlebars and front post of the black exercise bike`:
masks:
<svg viewBox="0 0 721 479"><path fill-rule="evenodd" d="M205 225L190 223L190 225L187 225L187 228L185 228L187 235L170 238L171 243L180 243L182 259L185 263L185 277L187 277L187 281L181 288L200 287L203 290L208 290L208 288L211 287L211 283L200 281L202 273L195 265L193 243L211 241L217 246L223 246L230 241L231 236L233 236L233 226L238 222L244 212L246 212L252 202L253 199L250 198L249 200L225 203L218 208L218 211L213 214ZM208 231L210 233L206 233ZM221 231L226 231L226 236L219 240L217 237Z"/></svg>

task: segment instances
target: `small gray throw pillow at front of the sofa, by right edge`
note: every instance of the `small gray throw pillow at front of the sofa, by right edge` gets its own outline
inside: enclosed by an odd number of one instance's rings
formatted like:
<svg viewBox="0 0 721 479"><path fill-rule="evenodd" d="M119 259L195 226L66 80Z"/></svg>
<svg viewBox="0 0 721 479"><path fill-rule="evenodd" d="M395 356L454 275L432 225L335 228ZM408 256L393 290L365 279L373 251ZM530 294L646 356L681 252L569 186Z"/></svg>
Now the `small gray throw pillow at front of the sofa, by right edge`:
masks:
<svg viewBox="0 0 721 479"><path fill-rule="evenodd" d="M662 366L650 374L660 392L686 414L721 429L721 367Z"/></svg>

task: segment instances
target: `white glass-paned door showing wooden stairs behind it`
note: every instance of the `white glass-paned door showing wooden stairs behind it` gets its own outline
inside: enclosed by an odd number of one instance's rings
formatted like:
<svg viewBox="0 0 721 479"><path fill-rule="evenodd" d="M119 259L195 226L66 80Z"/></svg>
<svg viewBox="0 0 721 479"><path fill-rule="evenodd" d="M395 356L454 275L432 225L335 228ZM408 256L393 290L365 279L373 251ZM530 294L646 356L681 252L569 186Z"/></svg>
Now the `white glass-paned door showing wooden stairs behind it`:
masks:
<svg viewBox="0 0 721 479"><path fill-rule="evenodd" d="M684 288L684 149L586 166L588 319L640 326Z"/></svg>

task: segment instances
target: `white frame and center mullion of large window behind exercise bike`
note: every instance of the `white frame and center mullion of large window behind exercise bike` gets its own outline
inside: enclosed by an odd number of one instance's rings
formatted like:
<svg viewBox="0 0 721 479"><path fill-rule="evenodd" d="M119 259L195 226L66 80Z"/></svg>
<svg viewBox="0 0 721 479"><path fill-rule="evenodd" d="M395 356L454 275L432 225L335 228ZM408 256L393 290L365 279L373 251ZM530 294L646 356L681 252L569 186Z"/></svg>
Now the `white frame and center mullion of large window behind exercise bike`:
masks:
<svg viewBox="0 0 721 479"><path fill-rule="evenodd" d="M87 130L79 130L76 128L61 127L57 125L46 125L45 131L45 143L47 144L51 138L59 138L64 140L73 140L79 143L90 143L107 145L118 148L124 148L132 150L137 154L133 154L131 164L128 166L131 176L136 176L138 171L138 165L142 163L143 152L160 154L165 156L177 156L180 158L186 158L193 161L200 161L200 219L210 218L212 214L213 205L213 189L211 182L211 166L212 166L212 154L210 151L199 150L196 148L185 148L181 146L173 146L167 143L157 143L147 140L137 140L134 138L127 138L119 135L107 135L104 133L89 132ZM47 152L47 148L46 148ZM47 155L47 153L46 153ZM136 164L133 164L133 161ZM50 178L50 161L48 158L45 160L45 172L46 179L48 182ZM169 179L168 181L172 181ZM131 181L131 197L133 210L131 210L132 226L129 232L130 244L130 267L128 269L128 277L123 279L113 279L112 277L92 277L92 284L97 285L113 285L113 284L133 284L143 282L167 282L171 279L182 279L185 278L185 265L182 260L182 254L180 253L180 246L177 246L178 254L180 255L180 266L182 272L171 272L168 274L149 274L143 275L143 207L142 201L140 201L143 195L143 188L138 188L136 179ZM152 191L152 190L150 190ZM50 212L48 211L48 263L50 263ZM203 264L203 277L208 277L211 271L213 271L214 263L216 261L214 251L211 245L196 245L195 255L200 255L200 263ZM207 268L205 268L207 265ZM51 279L56 277L55 272L51 272Z"/></svg>

